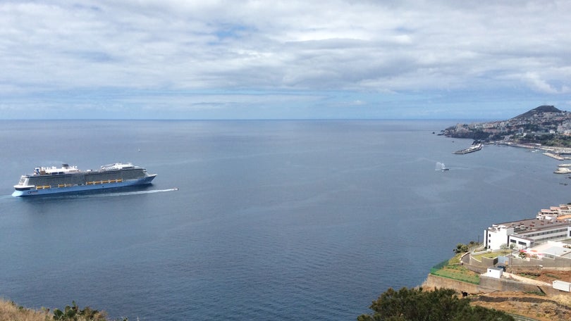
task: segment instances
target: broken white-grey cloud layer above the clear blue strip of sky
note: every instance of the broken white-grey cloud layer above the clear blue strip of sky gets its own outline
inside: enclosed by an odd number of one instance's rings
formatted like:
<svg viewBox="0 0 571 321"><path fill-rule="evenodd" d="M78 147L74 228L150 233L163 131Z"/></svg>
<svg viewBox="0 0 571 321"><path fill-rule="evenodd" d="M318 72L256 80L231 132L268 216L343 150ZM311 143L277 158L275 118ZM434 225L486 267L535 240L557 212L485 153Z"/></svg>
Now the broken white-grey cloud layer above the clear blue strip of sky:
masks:
<svg viewBox="0 0 571 321"><path fill-rule="evenodd" d="M2 1L0 98L98 88L560 95L570 11L568 1Z"/></svg>

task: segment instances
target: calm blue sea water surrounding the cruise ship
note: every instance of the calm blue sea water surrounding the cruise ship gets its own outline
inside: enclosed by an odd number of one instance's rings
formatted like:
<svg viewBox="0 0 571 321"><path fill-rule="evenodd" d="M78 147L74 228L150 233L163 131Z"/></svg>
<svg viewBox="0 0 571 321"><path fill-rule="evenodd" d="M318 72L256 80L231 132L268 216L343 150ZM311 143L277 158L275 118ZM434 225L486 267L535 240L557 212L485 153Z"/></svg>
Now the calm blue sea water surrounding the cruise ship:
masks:
<svg viewBox="0 0 571 321"><path fill-rule="evenodd" d="M355 320L491 223L571 201L541 153L453 155L472 141L432 132L454 123L2 121L0 296L130 320ZM9 196L35 166L116 161L158 176Z"/></svg>

